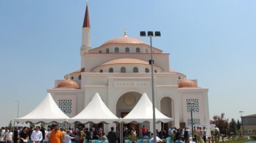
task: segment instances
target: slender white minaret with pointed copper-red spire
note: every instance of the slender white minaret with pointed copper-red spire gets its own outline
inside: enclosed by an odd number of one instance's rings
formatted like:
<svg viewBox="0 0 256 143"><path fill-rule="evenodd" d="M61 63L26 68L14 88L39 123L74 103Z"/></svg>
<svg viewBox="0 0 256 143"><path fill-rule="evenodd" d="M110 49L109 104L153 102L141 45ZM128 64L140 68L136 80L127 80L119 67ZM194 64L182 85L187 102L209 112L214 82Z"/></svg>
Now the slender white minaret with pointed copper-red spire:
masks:
<svg viewBox="0 0 256 143"><path fill-rule="evenodd" d="M84 24L82 24L82 45L80 47L80 55L84 56L84 53L88 53L90 47L90 19L88 11L88 0L86 0L86 10L84 14Z"/></svg>

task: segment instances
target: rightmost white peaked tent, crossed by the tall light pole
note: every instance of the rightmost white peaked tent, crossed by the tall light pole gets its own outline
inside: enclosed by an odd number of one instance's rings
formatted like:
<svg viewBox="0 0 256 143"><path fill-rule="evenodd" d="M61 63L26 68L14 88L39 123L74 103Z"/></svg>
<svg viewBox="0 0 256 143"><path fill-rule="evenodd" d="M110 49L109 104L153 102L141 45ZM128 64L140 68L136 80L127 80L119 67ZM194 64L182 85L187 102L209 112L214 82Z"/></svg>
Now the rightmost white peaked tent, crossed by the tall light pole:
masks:
<svg viewBox="0 0 256 143"><path fill-rule="evenodd" d="M174 121L174 119L166 117L166 115L162 114L158 109L155 108L156 115L156 123L164 122L167 123L169 121ZM152 102L149 100L148 96L144 93L141 96L141 99L135 105L133 110L127 114L122 121L124 123L143 123L148 121L150 123L153 122L153 109Z"/></svg>

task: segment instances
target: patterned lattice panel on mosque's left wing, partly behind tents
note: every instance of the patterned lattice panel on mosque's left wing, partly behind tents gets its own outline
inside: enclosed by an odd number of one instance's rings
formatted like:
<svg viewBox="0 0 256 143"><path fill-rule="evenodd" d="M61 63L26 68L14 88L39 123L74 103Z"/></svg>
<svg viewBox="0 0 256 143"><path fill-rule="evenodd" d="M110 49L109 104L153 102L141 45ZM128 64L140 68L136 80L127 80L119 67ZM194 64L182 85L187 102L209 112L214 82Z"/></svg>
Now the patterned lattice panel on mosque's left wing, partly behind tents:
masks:
<svg viewBox="0 0 256 143"><path fill-rule="evenodd" d="M59 99L58 103L59 109L63 111L68 117L72 117L72 100L71 99ZM60 123L59 128L69 129L71 128L71 124L68 123Z"/></svg>

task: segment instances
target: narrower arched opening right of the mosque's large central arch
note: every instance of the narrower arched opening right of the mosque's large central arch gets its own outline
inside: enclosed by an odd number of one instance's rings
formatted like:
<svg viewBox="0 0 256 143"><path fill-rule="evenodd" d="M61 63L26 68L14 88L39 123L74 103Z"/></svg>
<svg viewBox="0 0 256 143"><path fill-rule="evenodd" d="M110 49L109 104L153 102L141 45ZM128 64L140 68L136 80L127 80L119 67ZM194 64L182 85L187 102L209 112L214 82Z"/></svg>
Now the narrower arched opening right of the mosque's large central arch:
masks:
<svg viewBox="0 0 256 143"><path fill-rule="evenodd" d="M174 100L169 97L164 97L160 101L161 113L167 117L174 118ZM168 131L170 127L174 127L174 122L170 121L168 123L161 123L161 129Z"/></svg>

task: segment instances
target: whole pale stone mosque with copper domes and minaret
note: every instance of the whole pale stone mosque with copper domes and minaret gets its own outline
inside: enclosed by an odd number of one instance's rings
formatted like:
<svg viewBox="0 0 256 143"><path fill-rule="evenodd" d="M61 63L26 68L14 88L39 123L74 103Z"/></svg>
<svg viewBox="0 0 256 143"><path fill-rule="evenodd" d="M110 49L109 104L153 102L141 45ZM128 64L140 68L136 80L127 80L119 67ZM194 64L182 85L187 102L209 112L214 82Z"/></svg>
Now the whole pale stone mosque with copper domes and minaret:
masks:
<svg viewBox="0 0 256 143"><path fill-rule="evenodd" d="M64 79L55 80L55 87L48 89L59 108L69 117L75 117L98 92L107 107L117 117L125 117L135 107L143 93L152 101L150 45L124 35L91 47L90 18L88 3L82 25L82 44L80 47L80 69L67 73ZM188 80L185 74L170 69L169 53L152 47L154 59L154 100L156 108L164 115L174 119L170 123L159 123L158 130L170 127L191 127L191 108L193 126L210 127L208 108L208 88L200 88L197 80ZM193 105L189 105L193 102ZM134 126L138 131L142 126L152 130L152 123ZM84 126L80 123L71 127ZM110 130L115 124L85 125Z"/></svg>

